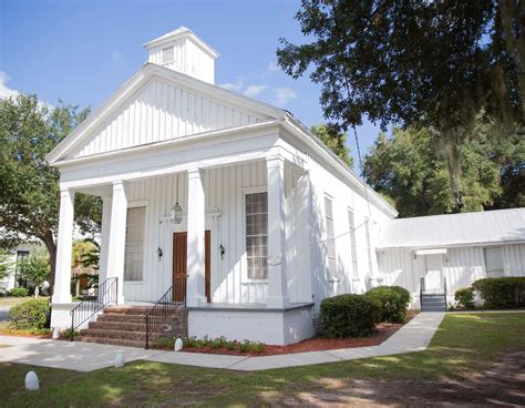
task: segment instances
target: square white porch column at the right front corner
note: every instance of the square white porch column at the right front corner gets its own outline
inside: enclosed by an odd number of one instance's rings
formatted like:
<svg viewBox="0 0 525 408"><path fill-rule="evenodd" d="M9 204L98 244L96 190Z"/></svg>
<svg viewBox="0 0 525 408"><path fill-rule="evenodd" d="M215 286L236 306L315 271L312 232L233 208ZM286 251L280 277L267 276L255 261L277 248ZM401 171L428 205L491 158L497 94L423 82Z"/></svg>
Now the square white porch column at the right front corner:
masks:
<svg viewBox="0 0 525 408"><path fill-rule="evenodd" d="M285 256L285 160L270 156L266 161L268 174L268 292L267 307L289 304Z"/></svg>

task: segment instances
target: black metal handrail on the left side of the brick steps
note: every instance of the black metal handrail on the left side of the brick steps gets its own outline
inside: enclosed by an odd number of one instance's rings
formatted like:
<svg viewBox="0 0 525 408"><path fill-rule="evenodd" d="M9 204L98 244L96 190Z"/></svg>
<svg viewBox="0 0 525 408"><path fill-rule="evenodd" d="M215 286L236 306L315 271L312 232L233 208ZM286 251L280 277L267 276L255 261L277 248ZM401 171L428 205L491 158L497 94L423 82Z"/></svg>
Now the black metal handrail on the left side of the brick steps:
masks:
<svg viewBox="0 0 525 408"><path fill-rule="evenodd" d="M73 341L74 330L83 323L91 319L96 313L110 305L117 304L119 278L109 277L99 285L95 299L85 299L79 303L70 312L71 314L71 341Z"/></svg>

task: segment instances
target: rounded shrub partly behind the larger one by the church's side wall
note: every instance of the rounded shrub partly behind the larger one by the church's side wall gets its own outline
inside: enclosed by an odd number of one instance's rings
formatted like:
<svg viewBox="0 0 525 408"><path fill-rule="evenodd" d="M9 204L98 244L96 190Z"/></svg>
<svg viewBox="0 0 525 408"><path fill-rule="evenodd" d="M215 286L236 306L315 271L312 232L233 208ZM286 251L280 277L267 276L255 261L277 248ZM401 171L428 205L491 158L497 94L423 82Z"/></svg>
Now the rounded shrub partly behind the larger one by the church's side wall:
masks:
<svg viewBox="0 0 525 408"><path fill-rule="evenodd" d="M399 286L398 288L378 286L364 294L369 299L379 302L381 307L379 322L403 323L406 319L410 294L406 297L406 294L404 292L401 293L400 289L402 288Z"/></svg>

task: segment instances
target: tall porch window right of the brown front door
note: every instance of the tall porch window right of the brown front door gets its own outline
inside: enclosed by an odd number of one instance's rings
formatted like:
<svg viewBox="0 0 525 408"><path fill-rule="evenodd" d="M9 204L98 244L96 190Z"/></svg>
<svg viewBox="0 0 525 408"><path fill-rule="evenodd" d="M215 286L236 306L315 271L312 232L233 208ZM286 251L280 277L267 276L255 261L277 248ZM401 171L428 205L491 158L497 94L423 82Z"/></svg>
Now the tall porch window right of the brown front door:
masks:
<svg viewBox="0 0 525 408"><path fill-rule="evenodd" d="M246 194L246 261L248 279L268 277L268 194Z"/></svg>

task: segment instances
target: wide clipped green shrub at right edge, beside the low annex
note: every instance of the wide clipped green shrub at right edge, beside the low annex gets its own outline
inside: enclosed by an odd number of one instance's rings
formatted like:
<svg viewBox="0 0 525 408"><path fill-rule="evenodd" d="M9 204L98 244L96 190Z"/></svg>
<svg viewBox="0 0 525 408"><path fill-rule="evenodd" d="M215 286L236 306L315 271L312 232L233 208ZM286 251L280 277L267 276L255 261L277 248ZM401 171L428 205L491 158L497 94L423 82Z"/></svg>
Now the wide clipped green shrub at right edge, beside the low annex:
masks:
<svg viewBox="0 0 525 408"><path fill-rule="evenodd" d="M480 293L486 308L505 309L525 306L525 277L480 279L472 284L472 288Z"/></svg>

